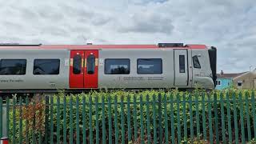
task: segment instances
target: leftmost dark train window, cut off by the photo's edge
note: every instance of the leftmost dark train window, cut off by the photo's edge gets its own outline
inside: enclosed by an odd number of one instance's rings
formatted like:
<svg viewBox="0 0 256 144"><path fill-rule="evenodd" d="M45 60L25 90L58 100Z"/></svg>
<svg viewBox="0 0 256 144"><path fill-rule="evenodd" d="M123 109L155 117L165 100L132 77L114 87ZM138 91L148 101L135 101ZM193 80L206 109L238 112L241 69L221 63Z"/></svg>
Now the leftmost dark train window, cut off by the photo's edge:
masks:
<svg viewBox="0 0 256 144"><path fill-rule="evenodd" d="M26 59L1 59L0 75L26 74Z"/></svg>

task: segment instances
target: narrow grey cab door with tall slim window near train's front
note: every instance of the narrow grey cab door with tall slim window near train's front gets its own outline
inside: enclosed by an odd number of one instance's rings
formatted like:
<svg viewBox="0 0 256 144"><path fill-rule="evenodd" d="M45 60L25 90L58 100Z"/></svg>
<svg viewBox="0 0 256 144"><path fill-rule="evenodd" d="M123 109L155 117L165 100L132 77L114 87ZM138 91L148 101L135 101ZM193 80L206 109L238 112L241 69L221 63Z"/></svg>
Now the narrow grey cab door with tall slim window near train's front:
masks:
<svg viewBox="0 0 256 144"><path fill-rule="evenodd" d="M188 85L187 50L174 50L174 86Z"/></svg>

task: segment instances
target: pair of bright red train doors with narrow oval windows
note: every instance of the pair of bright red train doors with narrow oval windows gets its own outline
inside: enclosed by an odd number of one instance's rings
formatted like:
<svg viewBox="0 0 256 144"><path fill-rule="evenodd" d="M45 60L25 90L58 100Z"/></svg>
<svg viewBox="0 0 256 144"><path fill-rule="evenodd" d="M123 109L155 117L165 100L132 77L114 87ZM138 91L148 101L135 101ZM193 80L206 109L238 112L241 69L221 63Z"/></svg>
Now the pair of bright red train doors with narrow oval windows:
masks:
<svg viewBox="0 0 256 144"><path fill-rule="evenodd" d="M98 88L98 50L70 51L70 88Z"/></svg>

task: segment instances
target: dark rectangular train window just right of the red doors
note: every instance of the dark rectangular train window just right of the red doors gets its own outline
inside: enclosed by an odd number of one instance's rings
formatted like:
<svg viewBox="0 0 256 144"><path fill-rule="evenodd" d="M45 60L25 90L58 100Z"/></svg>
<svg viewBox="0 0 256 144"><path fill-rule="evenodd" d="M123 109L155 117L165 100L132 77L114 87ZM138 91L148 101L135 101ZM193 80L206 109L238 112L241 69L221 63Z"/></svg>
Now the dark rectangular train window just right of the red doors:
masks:
<svg viewBox="0 0 256 144"><path fill-rule="evenodd" d="M106 59L105 74L130 74L130 59Z"/></svg>

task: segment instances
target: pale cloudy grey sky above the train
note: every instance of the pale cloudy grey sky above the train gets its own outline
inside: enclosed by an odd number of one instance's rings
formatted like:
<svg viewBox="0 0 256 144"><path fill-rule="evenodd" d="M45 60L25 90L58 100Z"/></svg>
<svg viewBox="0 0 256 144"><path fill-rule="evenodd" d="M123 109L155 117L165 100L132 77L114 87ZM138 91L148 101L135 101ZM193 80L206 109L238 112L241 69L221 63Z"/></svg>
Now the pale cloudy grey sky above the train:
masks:
<svg viewBox="0 0 256 144"><path fill-rule="evenodd" d="M256 68L255 0L0 0L0 43L218 49L218 72Z"/></svg>

